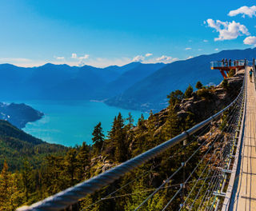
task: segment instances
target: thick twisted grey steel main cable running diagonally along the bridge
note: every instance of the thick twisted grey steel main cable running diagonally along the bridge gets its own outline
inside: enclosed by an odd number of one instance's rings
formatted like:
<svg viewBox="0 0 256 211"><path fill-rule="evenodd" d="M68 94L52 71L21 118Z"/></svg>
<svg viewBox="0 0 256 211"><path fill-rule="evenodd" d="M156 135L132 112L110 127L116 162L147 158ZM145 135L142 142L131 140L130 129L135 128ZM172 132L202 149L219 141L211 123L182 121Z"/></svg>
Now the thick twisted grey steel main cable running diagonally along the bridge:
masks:
<svg viewBox="0 0 256 211"><path fill-rule="evenodd" d="M131 170L137 168L139 165L146 163L146 161L149 161L153 157L158 156L158 154L165 152L167 149L170 149L171 146L177 144L178 142L186 140L187 137L190 137L199 129L202 129L205 125L217 119L223 112L233 106L234 103L237 102L243 91L244 82L237 98L235 98L229 106L226 106L226 108L222 109L218 113L215 113L213 116L207 118L205 121L198 123L198 125L194 125L194 127L192 127L191 129L188 129L185 132L179 134L178 136L171 138L170 140L162 143L161 145L157 145L153 149L149 149L145 153L139 154L137 157L131 158L130 160L125 161L122 164L117 165L104 173L100 173L98 176L92 177L87 181L83 181L78 185L74 185L69 189L63 190L62 192L57 193L51 197L47 197L42 201L38 201L33 205L23 206L21 208L18 208L17 210L54 211L66 209L69 205L74 205L79 199L86 197L87 194L94 193L95 191L102 189L106 185L110 185L110 183L118 180L119 177L122 177L124 174L129 173Z"/></svg>

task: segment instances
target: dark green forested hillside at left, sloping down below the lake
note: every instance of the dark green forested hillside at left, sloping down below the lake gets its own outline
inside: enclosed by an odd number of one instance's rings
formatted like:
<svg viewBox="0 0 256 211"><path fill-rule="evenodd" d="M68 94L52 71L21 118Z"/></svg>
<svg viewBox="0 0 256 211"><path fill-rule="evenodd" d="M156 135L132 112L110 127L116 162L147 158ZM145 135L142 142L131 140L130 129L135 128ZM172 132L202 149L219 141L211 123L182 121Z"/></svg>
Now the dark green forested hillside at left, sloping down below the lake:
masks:
<svg viewBox="0 0 256 211"><path fill-rule="evenodd" d="M24 133L8 121L0 120L0 169L4 161L8 162L13 172L21 170L24 161L37 168L47 154L63 154L66 150L65 146L46 143Z"/></svg>

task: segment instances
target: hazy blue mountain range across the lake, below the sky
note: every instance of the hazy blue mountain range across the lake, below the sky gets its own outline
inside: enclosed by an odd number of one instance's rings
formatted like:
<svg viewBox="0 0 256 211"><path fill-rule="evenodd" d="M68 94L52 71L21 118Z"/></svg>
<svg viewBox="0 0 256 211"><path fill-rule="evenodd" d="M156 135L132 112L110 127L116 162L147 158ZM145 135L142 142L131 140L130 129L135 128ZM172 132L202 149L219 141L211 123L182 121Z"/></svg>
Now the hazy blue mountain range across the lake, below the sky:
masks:
<svg viewBox="0 0 256 211"><path fill-rule="evenodd" d="M166 96L173 90L186 90L201 81L203 85L222 81L210 62L227 59L252 59L256 48L222 50L209 55L172 62L126 66L68 66L47 63L24 68L0 65L0 101L22 99L101 100L110 106L157 112L166 107Z"/></svg>

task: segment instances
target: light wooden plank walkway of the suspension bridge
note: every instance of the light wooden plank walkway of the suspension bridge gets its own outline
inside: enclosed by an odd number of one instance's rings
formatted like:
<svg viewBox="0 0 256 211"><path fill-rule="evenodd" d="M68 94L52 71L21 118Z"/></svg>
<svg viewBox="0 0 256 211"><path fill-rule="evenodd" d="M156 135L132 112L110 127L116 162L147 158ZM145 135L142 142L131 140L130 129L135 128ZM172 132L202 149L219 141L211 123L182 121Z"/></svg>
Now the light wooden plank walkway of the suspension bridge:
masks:
<svg viewBox="0 0 256 211"><path fill-rule="evenodd" d="M230 210L256 210L256 92L246 68L246 113L242 149ZM254 79L253 79L254 80Z"/></svg>

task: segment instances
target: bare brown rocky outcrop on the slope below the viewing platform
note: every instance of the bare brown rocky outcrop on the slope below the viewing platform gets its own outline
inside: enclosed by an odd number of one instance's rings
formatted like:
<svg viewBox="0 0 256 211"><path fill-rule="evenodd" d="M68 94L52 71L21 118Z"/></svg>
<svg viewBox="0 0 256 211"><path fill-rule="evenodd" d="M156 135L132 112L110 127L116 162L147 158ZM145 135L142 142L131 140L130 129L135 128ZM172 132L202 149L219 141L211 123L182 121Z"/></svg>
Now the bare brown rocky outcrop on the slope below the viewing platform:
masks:
<svg viewBox="0 0 256 211"><path fill-rule="evenodd" d="M226 86L222 82L218 86L197 90L192 94L192 98L184 98L182 102L175 105L174 111L177 113L178 118L183 121L186 121L186 117L191 113L193 113L196 123L203 121L228 106L238 96L243 78L244 70L241 70L233 77L226 78ZM169 111L170 108L167 107L158 113L154 113L154 119L156 120L155 135L158 134L159 130L166 123ZM136 129L134 128L134 130Z"/></svg>

